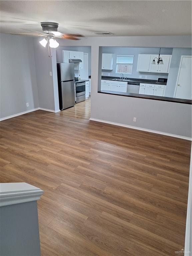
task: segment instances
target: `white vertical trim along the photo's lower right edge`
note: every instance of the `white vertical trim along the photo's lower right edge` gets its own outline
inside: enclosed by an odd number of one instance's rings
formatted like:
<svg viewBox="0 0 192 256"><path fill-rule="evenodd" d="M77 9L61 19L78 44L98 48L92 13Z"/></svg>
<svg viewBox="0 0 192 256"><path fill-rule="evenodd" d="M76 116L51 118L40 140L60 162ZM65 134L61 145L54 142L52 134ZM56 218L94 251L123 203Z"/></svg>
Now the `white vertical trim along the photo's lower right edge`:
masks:
<svg viewBox="0 0 192 256"><path fill-rule="evenodd" d="M190 161L190 173L189 173L189 192L188 192L188 203L187 203L184 256L191 255L191 252L192 252L191 235L192 235L192 147L191 147L191 161Z"/></svg>

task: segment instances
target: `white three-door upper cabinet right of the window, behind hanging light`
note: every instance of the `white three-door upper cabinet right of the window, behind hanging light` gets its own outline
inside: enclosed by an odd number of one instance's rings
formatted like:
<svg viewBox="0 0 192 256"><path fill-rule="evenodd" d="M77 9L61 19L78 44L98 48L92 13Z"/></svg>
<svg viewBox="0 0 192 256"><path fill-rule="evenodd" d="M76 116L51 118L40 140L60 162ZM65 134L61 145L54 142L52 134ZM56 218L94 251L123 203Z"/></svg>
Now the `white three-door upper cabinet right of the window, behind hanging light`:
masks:
<svg viewBox="0 0 192 256"><path fill-rule="evenodd" d="M137 71L154 72L154 73L169 73L171 63L171 55L160 55L163 64L157 64L158 54L139 54L137 62ZM155 59L156 64L151 64Z"/></svg>

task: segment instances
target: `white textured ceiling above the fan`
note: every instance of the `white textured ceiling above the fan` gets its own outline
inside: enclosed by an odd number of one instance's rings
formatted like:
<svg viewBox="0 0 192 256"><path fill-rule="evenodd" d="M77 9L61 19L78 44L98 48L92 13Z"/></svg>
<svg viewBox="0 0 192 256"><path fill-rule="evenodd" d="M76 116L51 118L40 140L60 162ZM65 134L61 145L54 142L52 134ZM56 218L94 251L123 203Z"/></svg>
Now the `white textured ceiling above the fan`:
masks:
<svg viewBox="0 0 192 256"><path fill-rule="evenodd" d="M2 33L42 32L40 22L62 33L112 32L112 36L190 35L191 1L0 1Z"/></svg>

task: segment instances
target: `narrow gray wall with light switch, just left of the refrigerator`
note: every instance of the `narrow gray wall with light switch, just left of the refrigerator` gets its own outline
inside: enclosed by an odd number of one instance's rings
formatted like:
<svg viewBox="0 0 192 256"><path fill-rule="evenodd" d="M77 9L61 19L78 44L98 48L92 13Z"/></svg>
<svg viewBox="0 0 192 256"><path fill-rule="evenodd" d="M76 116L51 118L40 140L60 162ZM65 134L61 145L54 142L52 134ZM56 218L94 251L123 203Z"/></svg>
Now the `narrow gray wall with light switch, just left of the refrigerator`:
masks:
<svg viewBox="0 0 192 256"><path fill-rule="evenodd" d="M39 96L39 107L50 110L59 110L58 88L55 88L55 76L57 75L55 49L53 49L53 58L49 58L48 48L44 48L39 43L39 38L33 39L33 46L35 56L36 80ZM52 72L52 68L54 68L54 77L49 75L49 72Z"/></svg>

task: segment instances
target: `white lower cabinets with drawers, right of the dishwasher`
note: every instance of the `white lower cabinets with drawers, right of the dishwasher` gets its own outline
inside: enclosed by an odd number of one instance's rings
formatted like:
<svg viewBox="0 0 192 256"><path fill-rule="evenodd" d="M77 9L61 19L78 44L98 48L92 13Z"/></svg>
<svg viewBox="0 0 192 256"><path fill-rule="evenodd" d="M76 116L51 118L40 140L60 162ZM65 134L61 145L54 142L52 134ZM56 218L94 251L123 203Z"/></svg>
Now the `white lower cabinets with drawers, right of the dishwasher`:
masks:
<svg viewBox="0 0 192 256"><path fill-rule="evenodd" d="M142 84L141 83L140 87L139 87L139 94L164 96L165 85Z"/></svg>

